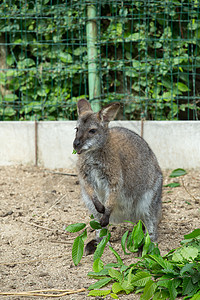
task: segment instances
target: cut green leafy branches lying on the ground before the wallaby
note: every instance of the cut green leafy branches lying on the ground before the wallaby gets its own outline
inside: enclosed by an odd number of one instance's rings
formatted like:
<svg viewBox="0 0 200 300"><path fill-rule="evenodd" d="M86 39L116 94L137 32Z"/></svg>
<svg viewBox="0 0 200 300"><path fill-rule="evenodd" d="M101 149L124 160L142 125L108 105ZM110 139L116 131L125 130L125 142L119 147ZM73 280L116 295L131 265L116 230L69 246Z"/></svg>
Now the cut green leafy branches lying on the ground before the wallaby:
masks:
<svg viewBox="0 0 200 300"><path fill-rule="evenodd" d="M91 228L98 228L98 222L92 220ZM70 232L83 230L84 223L67 227ZM134 224L133 224L134 225ZM104 229L102 229L104 230ZM184 296L184 299L200 297L200 229L195 229L184 236L180 247L162 256L158 247L151 242L148 232L144 233L142 222L133 226L131 232L125 232L121 245L125 255L136 252L143 247L142 257L136 263L125 265L120 255L111 247L116 263L104 264L101 257L110 239L109 230L97 246L94 253L93 271L88 273L97 281L90 285L88 296L110 296L118 299L121 293L141 293L142 300L171 299ZM72 258L77 265L83 255L86 229L74 240ZM109 289L102 289L109 285Z"/></svg>

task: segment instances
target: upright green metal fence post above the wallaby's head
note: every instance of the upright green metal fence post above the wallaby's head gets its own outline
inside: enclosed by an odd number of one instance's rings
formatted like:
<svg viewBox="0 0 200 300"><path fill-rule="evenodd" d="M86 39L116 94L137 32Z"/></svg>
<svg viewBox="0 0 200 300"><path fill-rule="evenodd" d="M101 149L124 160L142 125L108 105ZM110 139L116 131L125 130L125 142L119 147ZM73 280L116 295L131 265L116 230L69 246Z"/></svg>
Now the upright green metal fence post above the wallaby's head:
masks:
<svg viewBox="0 0 200 300"><path fill-rule="evenodd" d="M92 109L97 112L101 106L98 101L100 96L100 78L97 68L97 24L96 24L96 7L89 4L87 7L87 48L88 48L88 82L89 82L89 98L91 100Z"/></svg>

